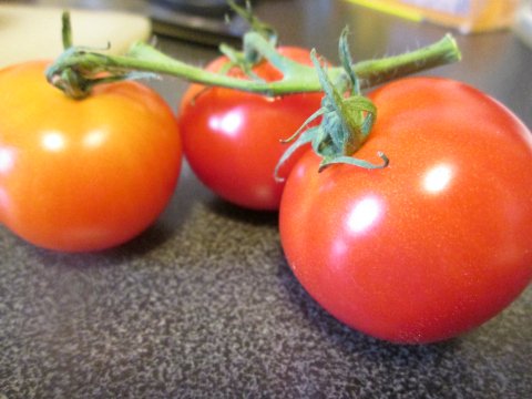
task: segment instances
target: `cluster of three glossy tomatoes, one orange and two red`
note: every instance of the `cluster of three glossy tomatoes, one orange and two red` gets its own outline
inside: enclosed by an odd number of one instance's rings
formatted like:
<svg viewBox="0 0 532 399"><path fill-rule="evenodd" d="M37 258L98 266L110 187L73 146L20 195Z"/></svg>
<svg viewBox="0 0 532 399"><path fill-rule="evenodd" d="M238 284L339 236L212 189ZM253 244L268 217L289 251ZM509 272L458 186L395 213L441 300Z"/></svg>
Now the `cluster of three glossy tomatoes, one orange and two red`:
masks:
<svg viewBox="0 0 532 399"><path fill-rule="evenodd" d="M310 63L307 50L279 51ZM319 173L320 160L304 147L280 171L284 186L274 178L286 151L279 141L321 94L267 98L194 84L176 119L133 82L69 99L47 83L45 66L0 71L0 222L34 245L99 250L140 234L175 190L183 141L193 171L222 197L255 209L280 204L295 276L369 335L457 336L501 311L532 278L531 133L463 83L415 78L374 91L377 122L356 156L383 152L389 165ZM267 62L254 73L280 78Z"/></svg>

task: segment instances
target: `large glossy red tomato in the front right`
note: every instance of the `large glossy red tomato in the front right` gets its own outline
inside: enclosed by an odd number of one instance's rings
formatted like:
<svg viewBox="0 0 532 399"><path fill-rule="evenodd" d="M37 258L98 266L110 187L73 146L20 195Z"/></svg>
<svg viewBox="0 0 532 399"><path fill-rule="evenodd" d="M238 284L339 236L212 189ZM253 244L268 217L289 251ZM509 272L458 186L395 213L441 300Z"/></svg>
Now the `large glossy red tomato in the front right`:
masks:
<svg viewBox="0 0 532 399"><path fill-rule="evenodd" d="M375 91L356 156L390 164L317 173L307 152L287 181L282 244L307 291L339 320L393 342L479 326L532 277L532 137L462 83L415 78Z"/></svg>

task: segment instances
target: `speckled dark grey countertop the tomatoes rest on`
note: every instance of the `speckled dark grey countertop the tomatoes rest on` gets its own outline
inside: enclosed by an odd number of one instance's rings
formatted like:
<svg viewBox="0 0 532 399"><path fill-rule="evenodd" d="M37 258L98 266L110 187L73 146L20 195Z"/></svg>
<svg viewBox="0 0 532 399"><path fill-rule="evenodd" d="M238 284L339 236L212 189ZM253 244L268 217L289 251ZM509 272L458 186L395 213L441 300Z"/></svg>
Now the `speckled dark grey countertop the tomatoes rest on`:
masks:
<svg viewBox="0 0 532 399"><path fill-rule="evenodd" d="M274 22L283 13L285 42L330 59L346 23L352 38L367 38L352 44L361 59L444 33L342 1L269 0L257 12ZM509 32L458 39L464 60L432 73L479 86L531 126L532 51ZM160 47L194 63L215 55L164 38ZM151 84L173 104L185 88ZM0 227L0 254L1 399L532 397L530 287L460 338L375 340L303 290L283 257L276 214L222 202L186 166L158 222L122 247L57 254Z"/></svg>

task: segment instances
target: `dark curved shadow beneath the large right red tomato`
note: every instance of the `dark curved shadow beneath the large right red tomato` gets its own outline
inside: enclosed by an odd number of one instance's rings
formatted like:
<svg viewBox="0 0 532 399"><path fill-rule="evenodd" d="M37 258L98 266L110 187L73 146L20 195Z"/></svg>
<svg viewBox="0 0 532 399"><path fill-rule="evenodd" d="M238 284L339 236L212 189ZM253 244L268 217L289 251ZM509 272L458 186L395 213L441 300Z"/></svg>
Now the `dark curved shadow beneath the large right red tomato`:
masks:
<svg viewBox="0 0 532 399"><path fill-rule="evenodd" d="M422 368L423 364L431 364L454 354L461 346L460 338L427 345L398 345L370 337L328 314L303 288L286 259L279 262L277 277L289 301L300 313L305 325L310 326L313 334L317 335L318 339L327 340L328 345L347 358L354 359L357 365L364 362L400 368L402 364L416 364Z"/></svg>

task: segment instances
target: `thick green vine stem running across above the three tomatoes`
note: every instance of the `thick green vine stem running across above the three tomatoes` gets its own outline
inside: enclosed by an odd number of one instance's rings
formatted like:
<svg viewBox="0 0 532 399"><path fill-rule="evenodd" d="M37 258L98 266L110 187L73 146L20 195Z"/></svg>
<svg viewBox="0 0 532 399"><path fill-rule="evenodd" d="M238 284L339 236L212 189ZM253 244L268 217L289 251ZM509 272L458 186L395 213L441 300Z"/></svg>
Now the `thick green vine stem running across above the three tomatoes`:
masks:
<svg viewBox="0 0 532 399"><path fill-rule="evenodd" d="M245 37L245 45L258 51L265 59L284 73L284 78L274 82L243 80L226 74L213 73L202 68L186 64L163 54L153 47L139 42L125 55L110 55L72 47L66 50L47 71L47 78L61 90L74 98L86 96L93 85L101 83L102 72L111 75L111 80L129 79L132 72L152 72L173 75L205 85L216 85L242 91L283 95L301 92L321 91L316 70L301 65L280 55L275 48L257 33ZM352 65L360 80L361 89L420 72L430 68L454 62L460 59L460 51L451 35L440 41L408 52L406 54L370 60ZM75 79L70 80L72 71ZM342 78L341 66L328 68L327 75L332 82ZM66 80L66 81L65 81ZM109 81L108 76L105 81ZM78 88L72 88L76 85Z"/></svg>

